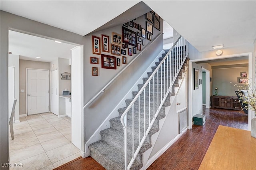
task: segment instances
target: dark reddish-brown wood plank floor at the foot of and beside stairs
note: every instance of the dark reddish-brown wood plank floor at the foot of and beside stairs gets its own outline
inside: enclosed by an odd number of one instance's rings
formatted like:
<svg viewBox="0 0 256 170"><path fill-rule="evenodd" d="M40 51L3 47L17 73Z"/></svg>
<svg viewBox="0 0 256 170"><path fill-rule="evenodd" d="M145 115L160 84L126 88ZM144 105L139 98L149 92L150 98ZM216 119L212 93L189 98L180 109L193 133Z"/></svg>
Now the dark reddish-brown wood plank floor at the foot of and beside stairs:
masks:
<svg viewBox="0 0 256 170"><path fill-rule="evenodd" d="M197 170L219 125L248 129L248 116L228 109L203 109L206 123L193 125L148 170ZM55 170L103 170L91 157L77 158Z"/></svg>

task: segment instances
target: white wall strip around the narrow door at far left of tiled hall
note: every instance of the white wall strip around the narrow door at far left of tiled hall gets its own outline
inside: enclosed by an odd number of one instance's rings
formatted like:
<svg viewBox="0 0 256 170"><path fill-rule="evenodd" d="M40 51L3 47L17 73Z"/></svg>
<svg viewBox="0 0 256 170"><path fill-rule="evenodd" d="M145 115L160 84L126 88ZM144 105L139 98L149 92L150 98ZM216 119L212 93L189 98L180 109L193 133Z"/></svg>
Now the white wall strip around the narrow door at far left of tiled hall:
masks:
<svg viewBox="0 0 256 170"><path fill-rule="evenodd" d="M20 56L19 55L9 55L8 66L14 67L14 98L17 99L15 107L14 121L18 122L20 120Z"/></svg>

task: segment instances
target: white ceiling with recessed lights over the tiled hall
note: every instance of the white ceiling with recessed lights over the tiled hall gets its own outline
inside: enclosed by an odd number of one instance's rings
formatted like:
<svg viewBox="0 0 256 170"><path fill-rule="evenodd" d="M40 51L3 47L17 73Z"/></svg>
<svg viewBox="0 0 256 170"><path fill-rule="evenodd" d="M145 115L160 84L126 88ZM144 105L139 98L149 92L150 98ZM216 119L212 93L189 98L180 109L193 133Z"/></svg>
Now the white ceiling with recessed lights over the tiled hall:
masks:
<svg viewBox="0 0 256 170"><path fill-rule="evenodd" d="M75 45L56 43L53 40L9 31L9 51L20 59L50 62L58 58L70 59ZM36 57L41 57L38 59Z"/></svg>

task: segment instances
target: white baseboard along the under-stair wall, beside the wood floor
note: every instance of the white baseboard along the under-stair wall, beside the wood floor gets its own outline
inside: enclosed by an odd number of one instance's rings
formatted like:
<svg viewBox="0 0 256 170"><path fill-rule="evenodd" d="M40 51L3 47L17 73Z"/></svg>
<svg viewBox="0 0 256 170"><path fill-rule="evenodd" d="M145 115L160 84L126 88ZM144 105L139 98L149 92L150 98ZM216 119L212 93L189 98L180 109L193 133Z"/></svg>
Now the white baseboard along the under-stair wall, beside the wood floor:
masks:
<svg viewBox="0 0 256 170"><path fill-rule="evenodd" d="M155 162L168 148L170 148L170 146L172 146L172 144L174 144L174 142L176 142L180 136L182 136L182 134L184 132L186 132L188 130L188 128L185 128L180 134L178 134L174 139L172 139L168 144L166 144L161 150L159 150L156 154L154 154L154 156L152 156L152 158L150 158L145 166L144 169L147 169L153 162Z"/></svg>

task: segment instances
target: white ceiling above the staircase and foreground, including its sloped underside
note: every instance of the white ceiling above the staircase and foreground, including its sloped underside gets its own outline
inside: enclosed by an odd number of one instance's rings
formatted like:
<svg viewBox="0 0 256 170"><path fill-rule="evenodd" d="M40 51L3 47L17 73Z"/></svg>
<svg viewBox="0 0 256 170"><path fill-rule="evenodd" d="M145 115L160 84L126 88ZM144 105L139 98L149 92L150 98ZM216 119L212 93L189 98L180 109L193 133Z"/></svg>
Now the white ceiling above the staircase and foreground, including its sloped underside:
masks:
<svg viewBox="0 0 256 170"><path fill-rule="evenodd" d="M213 45L220 44L225 47L252 44L256 37L256 1L1 0L0 3L1 10L82 36L123 24L152 9L198 51L212 50Z"/></svg>

